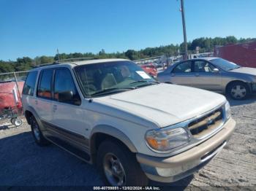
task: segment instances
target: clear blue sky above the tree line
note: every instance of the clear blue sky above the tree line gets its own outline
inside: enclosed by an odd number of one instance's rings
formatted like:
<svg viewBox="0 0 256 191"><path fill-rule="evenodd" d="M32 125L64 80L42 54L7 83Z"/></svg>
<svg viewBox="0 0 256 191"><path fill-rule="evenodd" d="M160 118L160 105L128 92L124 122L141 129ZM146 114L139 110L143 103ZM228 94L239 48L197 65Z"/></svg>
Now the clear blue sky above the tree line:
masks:
<svg viewBox="0 0 256 191"><path fill-rule="evenodd" d="M255 0L184 0L187 39L256 37ZM0 0L0 60L183 41L177 0Z"/></svg>

